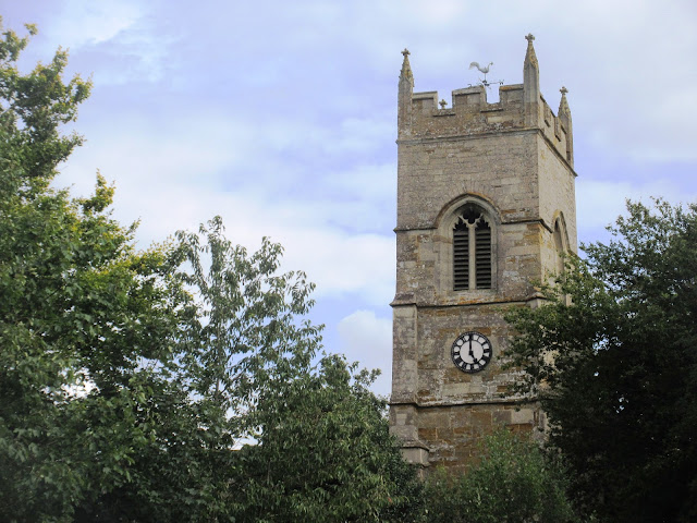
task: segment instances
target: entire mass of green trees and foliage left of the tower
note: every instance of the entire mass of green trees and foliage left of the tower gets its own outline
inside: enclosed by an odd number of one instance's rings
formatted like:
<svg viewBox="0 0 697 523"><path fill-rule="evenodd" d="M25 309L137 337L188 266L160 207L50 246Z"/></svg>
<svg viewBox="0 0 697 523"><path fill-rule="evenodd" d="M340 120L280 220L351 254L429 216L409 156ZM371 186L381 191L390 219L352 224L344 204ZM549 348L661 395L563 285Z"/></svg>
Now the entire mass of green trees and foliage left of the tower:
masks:
<svg viewBox="0 0 697 523"><path fill-rule="evenodd" d="M60 50L21 74L27 41L0 40L0 520L408 521L415 473L372 375L317 361L305 275L219 218L138 252L103 178L52 188L90 86Z"/></svg>

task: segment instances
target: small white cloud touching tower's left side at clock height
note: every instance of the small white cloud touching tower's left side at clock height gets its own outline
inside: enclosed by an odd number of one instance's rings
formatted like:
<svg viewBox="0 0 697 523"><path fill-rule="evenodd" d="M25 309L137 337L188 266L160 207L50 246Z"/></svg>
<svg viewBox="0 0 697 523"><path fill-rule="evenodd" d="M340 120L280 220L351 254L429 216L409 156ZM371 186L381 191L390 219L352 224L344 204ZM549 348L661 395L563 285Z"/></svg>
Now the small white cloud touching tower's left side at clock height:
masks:
<svg viewBox="0 0 697 523"><path fill-rule="evenodd" d="M366 368L380 368L382 374L374 390L389 394L392 379L392 319L377 317L372 311L356 311L338 325L340 348L348 361Z"/></svg>

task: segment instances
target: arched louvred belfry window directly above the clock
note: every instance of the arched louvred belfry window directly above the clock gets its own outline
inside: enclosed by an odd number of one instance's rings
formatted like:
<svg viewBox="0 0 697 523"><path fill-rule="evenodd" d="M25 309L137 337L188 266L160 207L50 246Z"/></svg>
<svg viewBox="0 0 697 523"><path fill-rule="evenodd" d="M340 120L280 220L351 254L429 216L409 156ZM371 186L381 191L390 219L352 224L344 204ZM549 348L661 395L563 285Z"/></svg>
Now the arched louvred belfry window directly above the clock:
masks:
<svg viewBox="0 0 697 523"><path fill-rule="evenodd" d="M491 226L481 209L467 206L453 229L453 289L491 289Z"/></svg>

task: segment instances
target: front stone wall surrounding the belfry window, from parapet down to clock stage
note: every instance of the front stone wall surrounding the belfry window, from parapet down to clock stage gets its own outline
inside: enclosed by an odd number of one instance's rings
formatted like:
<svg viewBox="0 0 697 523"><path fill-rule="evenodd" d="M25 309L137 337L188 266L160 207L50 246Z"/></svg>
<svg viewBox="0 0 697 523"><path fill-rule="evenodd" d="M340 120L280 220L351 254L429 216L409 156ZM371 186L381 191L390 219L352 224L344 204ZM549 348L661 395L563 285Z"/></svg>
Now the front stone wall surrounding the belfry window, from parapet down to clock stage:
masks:
<svg viewBox="0 0 697 523"><path fill-rule="evenodd" d="M540 265L539 173L534 132L400 145L396 300L468 303L524 300ZM468 200L488 206L496 285L452 292L452 228Z"/></svg>

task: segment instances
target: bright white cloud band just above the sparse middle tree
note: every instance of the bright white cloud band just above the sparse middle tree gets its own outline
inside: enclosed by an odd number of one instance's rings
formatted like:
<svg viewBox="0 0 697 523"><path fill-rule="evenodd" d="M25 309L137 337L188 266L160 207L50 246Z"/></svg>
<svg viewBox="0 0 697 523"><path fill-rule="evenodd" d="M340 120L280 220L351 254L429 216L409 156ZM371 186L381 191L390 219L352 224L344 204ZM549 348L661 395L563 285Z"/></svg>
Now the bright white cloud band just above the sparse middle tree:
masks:
<svg viewBox="0 0 697 523"><path fill-rule="evenodd" d="M384 304L394 292L394 240L378 234L346 233L328 226L315 209L295 203L276 203L246 193L216 193L184 186L144 190L130 196L130 209L143 210L140 236L163 239L178 229L195 230L220 215L227 235L256 248L270 236L285 248L283 269L302 269L317 284L316 295L360 295L367 303ZM157 198L149 198L157 194ZM150 202L148 202L150 199ZM124 206L121 206L123 209Z"/></svg>

